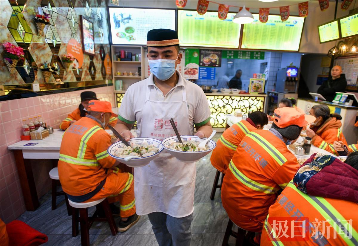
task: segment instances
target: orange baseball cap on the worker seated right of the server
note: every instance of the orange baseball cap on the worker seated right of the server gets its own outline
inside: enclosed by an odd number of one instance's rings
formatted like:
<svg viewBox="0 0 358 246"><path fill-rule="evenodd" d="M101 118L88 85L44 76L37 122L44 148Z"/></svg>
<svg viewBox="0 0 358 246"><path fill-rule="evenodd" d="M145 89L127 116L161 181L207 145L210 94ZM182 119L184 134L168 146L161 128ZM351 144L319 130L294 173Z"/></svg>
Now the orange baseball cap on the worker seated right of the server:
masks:
<svg viewBox="0 0 358 246"><path fill-rule="evenodd" d="M277 108L274 112L274 123L279 128L296 125L299 127L307 126L313 123L316 117L306 115L300 108Z"/></svg>

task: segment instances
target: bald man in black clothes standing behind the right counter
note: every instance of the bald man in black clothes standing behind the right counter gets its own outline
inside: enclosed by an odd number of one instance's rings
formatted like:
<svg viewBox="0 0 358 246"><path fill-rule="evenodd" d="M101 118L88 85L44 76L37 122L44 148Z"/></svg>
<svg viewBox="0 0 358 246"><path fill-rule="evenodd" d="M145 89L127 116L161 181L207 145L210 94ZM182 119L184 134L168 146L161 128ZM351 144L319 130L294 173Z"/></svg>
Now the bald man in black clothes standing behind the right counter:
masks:
<svg viewBox="0 0 358 246"><path fill-rule="evenodd" d="M344 92L347 86L347 80L345 80L345 75L342 74L341 66L332 67L331 76L317 90L317 93L321 94L327 101L332 101L335 93Z"/></svg>

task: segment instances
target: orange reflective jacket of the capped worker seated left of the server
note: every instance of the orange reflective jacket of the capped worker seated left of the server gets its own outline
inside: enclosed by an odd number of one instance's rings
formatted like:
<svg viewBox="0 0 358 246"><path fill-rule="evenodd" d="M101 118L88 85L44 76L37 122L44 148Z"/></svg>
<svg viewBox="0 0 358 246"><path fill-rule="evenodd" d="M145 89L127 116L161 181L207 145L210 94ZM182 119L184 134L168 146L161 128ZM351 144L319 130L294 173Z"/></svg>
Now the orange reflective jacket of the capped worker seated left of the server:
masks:
<svg viewBox="0 0 358 246"><path fill-rule="evenodd" d="M58 175L65 193L73 196L93 191L115 164L107 153L111 137L95 120L82 117L63 134Z"/></svg>

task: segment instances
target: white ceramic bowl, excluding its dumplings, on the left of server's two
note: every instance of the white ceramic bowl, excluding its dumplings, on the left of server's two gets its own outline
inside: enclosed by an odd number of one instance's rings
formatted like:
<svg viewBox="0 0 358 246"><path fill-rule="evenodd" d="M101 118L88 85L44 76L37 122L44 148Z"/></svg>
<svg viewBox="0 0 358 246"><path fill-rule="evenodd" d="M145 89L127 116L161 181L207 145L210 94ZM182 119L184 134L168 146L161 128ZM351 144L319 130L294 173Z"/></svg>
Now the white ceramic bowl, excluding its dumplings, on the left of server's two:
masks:
<svg viewBox="0 0 358 246"><path fill-rule="evenodd" d="M154 147L158 148L158 153L155 153L154 155L147 156L147 157L133 158L129 161L125 161L124 158L120 158L120 157L114 155L116 153L116 151L118 151L120 148L126 147L126 145L122 141L113 143L108 148L107 152L110 156L112 156L113 158L117 159L118 161L126 164L129 167L142 167L142 166L149 164L149 162L151 160L154 160L156 157L158 157L160 152L163 151L163 145L161 145L161 142L158 139L154 139L154 138L143 138L143 137L131 138L131 140L128 143L130 145L132 145L134 143L137 145L141 145L144 141L147 141L147 143L149 145L154 145Z"/></svg>

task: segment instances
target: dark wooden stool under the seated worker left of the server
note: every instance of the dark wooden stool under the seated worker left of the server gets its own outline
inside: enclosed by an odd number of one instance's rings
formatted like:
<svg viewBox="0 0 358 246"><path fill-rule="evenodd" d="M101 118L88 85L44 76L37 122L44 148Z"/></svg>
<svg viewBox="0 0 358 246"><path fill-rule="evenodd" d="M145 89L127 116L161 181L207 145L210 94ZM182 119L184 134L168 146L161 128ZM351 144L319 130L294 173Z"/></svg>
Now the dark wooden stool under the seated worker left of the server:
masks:
<svg viewBox="0 0 358 246"><path fill-rule="evenodd" d="M107 198L103 198L97 201L88 202L88 203L76 203L68 200L69 205L72 207L72 236L76 237L78 234L78 222L81 225L81 245L89 246L89 228L91 228L94 221L107 221L112 235L117 234L116 223L113 219L112 211L108 203ZM101 218L98 216L99 205L102 205L103 210L105 211L106 217ZM96 206L97 209L92 217L88 217L88 208ZM78 217L79 213L79 217Z"/></svg>

